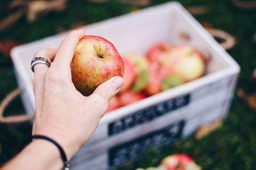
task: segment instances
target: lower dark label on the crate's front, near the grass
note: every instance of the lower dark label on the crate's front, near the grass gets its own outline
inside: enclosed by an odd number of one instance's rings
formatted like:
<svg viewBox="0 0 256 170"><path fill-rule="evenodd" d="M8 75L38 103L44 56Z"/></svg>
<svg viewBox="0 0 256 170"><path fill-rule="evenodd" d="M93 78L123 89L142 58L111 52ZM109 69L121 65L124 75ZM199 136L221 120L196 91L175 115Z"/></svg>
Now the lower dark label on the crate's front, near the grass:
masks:
<svg viewBox="0 0 256 170"><path fill-rule="evenodd" d="M159 146L172 143L180 138L184 125L185 121L180 120L164 127L163 129L150 132L145 136L141 136L140 138L133 139L127 143L110 148L108 152L109 166L120 166L129 160L135 159L144 153L149 147L157 148Z"/></svg>

